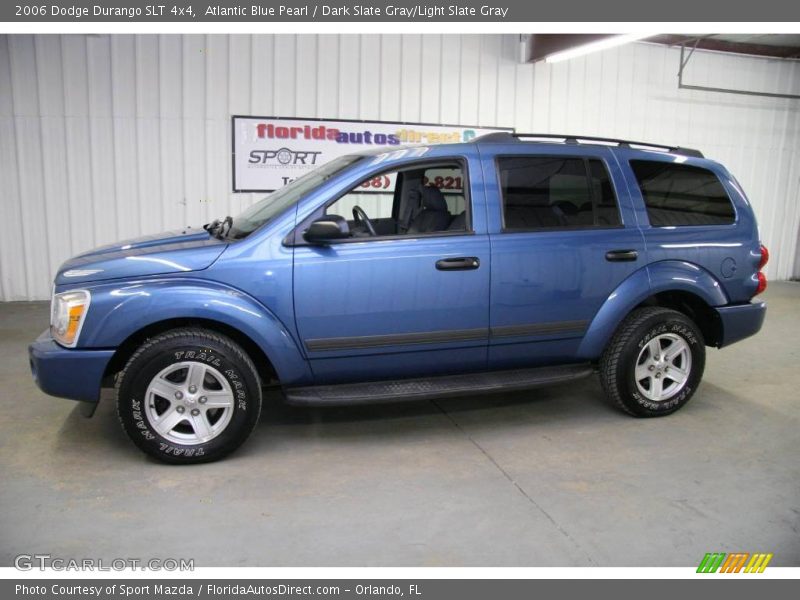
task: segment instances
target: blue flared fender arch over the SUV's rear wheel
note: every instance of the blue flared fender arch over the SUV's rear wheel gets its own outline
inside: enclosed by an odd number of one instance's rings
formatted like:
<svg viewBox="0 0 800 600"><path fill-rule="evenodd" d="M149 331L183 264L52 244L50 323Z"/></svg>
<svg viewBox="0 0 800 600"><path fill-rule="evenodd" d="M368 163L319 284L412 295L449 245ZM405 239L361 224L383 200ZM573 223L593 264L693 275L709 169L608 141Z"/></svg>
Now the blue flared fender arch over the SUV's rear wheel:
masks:
<svg viewBox="0 0 800 600"><path fill-rule="evenodd" d="M665 260L631 274L606 299L583 337L578 355L594 360L602 354L622 320L647 298L660 292L694 294L709 306L724 306L728 298L714 276L693 263Z"/></svg>

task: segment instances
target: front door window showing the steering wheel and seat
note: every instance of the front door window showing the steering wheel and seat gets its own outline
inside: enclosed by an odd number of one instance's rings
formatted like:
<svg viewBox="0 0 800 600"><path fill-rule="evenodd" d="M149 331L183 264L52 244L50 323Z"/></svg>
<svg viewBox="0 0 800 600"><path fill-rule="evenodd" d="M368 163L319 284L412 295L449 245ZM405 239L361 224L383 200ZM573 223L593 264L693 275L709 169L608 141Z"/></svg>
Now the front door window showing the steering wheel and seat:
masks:
<svg viewBox="0 0 800 600"><path fill-rule="evenodd" d="M325 209L351 237L467 230L466 173L459 162L407 165L365 179Z"/></svg>

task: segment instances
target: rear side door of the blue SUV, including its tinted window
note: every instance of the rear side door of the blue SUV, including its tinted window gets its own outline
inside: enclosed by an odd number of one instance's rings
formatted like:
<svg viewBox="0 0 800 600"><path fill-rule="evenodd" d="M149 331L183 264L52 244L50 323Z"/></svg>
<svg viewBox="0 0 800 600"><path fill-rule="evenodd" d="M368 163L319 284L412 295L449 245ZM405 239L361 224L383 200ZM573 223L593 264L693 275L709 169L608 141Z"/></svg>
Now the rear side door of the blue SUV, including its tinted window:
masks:
<svg viewBox="0 0 800 600"><path fill-rule="evenodd" d="M646 264L625 179L601 146L487 144L481 154L492 245L489 366L575 360L601 305Z"/></svg>

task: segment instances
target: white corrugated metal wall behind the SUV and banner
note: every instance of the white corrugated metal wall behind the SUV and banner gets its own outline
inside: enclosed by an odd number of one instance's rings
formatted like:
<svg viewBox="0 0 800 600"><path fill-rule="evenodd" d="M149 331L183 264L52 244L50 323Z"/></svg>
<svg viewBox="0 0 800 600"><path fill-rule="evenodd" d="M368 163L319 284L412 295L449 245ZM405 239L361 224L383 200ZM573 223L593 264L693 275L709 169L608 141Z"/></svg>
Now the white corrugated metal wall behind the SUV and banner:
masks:
<svg viewBox="0 0 800 600"><path fill-rule="evenodd" d="M520 64L516 35L0 36L0 300L93 246L235 214L230 115L513 126L697 147L792 275L797 100L677 89L678 51ZM800 93L800 63L698 52L688 83Z"/></svg>

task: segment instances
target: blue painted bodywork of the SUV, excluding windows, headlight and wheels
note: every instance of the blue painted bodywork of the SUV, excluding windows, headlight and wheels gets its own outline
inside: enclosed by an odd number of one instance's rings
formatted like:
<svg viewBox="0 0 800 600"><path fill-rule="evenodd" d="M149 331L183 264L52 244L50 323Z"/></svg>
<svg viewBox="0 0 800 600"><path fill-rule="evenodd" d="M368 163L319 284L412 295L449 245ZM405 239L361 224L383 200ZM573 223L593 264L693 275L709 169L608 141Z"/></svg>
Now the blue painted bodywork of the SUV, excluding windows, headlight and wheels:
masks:
<svg viewBox="0 0 800 600"><path fill-rule="evenodd" d="M505 232L499 156L576 156L607 170L619 227ZM297 243L327 203L386 169L458 160L468 174L469 231L326 246ZM652 227L632 159L713 171L736 212L732 225ZM727 170L706 159L626 147L476 143L366 156L240 240L202 229L148 236L76 256L56 293L91 293L76 348L48 337L30 348L47 393L99 397L125 340L174 319L221 323L263 350L284 386L457 374L596 360L620 322L653 294L691 293L717 310L721 345L752 335L760 242L752 209ZM629 262L606 252L635 251ZM437 261L474 257L472 270ZM735 273L725 265L737 265Z"/></svg>

